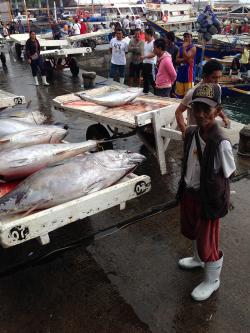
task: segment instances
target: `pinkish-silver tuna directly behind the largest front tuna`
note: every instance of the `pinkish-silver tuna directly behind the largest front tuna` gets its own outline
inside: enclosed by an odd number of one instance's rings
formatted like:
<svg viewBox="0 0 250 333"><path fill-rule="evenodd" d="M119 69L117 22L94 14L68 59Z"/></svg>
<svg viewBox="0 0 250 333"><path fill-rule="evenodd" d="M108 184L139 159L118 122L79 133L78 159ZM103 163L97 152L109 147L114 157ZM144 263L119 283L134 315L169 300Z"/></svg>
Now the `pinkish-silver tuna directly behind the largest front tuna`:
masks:
<svg viewBox="0 0 250 333"><path fill-rule="evenodd" d="M2 180L24 178L48 164L96 148L97 141L82 143L41 144L1 152L0 177Z"/></svg>

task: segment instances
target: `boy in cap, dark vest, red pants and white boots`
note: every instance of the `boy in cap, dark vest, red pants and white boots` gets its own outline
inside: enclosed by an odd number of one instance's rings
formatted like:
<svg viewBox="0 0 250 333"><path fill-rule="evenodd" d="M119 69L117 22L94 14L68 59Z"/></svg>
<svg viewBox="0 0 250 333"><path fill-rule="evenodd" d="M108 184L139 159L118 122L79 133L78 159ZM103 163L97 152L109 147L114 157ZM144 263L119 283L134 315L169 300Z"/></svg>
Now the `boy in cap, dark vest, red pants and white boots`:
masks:
<svg viewBox="0 0 250 333"><path fill-rule="evenodd" d="M179 260L182 269L204 268L204 280L191 293L208 299L220 286L223 252L219 249L220 218L229 210L229 177L235 172L231 143L215 118L221 109L221 87L202 83L191 107L197 126L186 131L180 200L181 232L193 244L193 256Z"/></svg>

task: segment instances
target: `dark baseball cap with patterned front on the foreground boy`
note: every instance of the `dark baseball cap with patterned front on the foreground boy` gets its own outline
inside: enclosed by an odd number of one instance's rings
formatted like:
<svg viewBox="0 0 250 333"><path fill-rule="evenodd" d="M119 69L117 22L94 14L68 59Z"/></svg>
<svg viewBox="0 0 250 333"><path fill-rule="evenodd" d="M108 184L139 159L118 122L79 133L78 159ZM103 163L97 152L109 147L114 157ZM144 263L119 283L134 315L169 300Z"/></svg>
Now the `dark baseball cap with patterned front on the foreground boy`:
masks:
<svg viewBox="0 0 250 333"><path fill-rule="evenodd" d="M221 104L221 87L215 83L201 83L194 90L192 102L202 102L211 107Z"/></svg>

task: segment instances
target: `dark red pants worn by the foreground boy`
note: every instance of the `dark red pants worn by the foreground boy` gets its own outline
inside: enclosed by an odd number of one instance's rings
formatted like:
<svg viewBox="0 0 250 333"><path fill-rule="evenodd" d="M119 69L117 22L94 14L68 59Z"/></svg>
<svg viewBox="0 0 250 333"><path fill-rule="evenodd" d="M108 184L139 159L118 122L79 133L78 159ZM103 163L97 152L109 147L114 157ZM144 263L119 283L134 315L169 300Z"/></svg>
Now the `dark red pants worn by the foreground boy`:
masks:
<svg viewBox="0 0 250 333"><path fill-rule="evenodd" d="M184 191L180 202L181 232L196 240L199 257L202 261L220 259L219 237L220 220L205 220L201 217L201 205L197 192Z"/></svg>

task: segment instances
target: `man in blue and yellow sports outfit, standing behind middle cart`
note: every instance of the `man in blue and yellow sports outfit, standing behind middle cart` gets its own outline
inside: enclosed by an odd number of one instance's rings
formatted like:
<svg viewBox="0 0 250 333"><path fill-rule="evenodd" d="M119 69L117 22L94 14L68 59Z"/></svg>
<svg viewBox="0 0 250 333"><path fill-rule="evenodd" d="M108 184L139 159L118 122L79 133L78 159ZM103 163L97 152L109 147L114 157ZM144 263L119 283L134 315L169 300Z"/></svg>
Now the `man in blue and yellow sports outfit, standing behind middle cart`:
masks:
<svg viewBox="0 0 250 333"><path fill-rule="evenodd" d="M178 98L183 98L187 91L194 86L196 47L192 43L192 34L185 32L184 42L177 53L177 70L175 93Z"/></svg>

